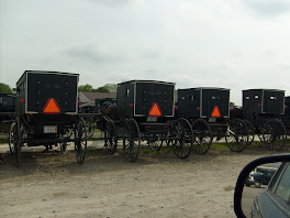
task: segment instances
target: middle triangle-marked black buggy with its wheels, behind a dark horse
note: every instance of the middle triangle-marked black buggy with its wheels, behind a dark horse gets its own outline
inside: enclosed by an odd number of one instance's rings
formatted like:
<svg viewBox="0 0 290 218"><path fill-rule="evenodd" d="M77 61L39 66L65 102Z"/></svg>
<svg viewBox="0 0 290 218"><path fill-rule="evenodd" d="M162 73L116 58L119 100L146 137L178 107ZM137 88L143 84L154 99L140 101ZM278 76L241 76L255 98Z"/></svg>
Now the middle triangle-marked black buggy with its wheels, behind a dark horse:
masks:
<svg viewBox="0 0 290 218"><path fill-rule="evenodd" d="M189 156L193 132L186 119L175 119L175 84L154 80L131 80L118 85L116 105L109 103L102 110L104 141L114 153L118 140L129 161L136 161L141 142L147 141L153 151L171 142L175 154Z"/></svg>

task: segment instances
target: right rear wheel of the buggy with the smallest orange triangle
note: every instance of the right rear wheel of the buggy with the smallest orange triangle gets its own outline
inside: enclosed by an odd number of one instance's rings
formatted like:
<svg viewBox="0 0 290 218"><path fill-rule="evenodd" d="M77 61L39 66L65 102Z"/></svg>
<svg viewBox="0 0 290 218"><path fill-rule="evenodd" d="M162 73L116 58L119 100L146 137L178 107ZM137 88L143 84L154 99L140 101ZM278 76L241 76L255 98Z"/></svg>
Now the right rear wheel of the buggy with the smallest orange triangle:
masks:
<svg viewBox="0 0 290 218"><path fill-rule="evenodd" d="M233 119L227 126L225 143L233 152L242 152L248 144L248 129L241 119Z"/></svg>

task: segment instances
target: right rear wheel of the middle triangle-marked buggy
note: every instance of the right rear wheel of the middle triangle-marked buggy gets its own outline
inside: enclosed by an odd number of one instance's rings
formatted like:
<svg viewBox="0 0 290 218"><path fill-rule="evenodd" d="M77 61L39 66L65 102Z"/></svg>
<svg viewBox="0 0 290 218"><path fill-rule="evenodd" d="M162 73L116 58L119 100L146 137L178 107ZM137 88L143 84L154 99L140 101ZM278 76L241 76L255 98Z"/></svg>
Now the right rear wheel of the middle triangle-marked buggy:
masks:
<svg viewBox="0 0 290 218"><path fill-rule="evenodd" d="M193 131L188 120L179 118L172 128L169 128L172 138L172 149L179 159L187 159L193 145Z"/></svg>

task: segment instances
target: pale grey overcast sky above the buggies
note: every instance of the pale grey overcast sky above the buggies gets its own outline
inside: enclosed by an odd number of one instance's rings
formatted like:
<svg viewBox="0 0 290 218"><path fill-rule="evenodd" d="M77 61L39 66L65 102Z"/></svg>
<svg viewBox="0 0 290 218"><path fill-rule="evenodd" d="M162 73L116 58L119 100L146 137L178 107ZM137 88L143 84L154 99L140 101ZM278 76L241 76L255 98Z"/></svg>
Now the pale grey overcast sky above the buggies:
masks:
<svg viewBox="0 0 290 218"><path fill-rule="evenodd" d="M25 69L290 95L290 1L0 0L0 81Z"/></svg>

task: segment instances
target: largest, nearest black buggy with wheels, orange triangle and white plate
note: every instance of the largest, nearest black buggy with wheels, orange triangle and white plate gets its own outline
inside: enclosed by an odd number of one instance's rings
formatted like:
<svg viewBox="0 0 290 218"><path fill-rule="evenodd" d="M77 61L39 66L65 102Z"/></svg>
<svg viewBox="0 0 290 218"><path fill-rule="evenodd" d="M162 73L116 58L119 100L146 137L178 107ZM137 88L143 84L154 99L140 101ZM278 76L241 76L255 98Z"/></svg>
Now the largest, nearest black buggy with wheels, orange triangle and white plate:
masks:
<svg viewBox="0 0 290 218"><path fill-rule="evenodd" d="M75 143L76 159L82 163L87 150L83 120L78 116L78 74L26 70L16 83L16 116L10 128L10 151L19 164L24 145ZM67 135L74 130L74 139Z"/></svg>

